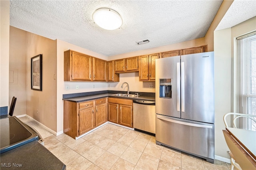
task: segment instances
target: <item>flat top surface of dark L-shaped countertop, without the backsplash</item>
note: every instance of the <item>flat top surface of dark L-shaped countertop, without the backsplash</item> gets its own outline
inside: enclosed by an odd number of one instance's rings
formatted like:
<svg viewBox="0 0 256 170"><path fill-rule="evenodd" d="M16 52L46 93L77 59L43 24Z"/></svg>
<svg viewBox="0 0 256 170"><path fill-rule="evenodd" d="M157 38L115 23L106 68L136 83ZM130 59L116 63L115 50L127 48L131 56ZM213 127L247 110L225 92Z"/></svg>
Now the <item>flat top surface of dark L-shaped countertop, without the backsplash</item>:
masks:
<svg viewBox="0 0 256 170"><path fill-rule="evenodd" d="M120 91L117 91L116 93L120 93ZM84 101L90 101L95 99L101 99L104 97L115 97L115 98L122 98L122 99L139 99L139 100L147 100L147 101L155 101L154 95L139 95L137 97L122 97L122 96L112 96L116 93L102 93L102 94L96 94L96 95L86 95L86 96L80 96L80 97L70 97L70 98L63 98L63 100L66 101L72 101L72 102L84 102ZM132 93L134 94L134 93ZM140 94L140 93L139 93Z"/></svg>

